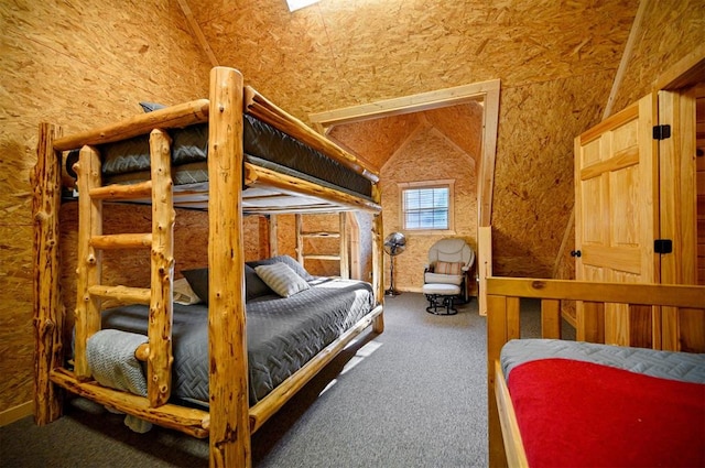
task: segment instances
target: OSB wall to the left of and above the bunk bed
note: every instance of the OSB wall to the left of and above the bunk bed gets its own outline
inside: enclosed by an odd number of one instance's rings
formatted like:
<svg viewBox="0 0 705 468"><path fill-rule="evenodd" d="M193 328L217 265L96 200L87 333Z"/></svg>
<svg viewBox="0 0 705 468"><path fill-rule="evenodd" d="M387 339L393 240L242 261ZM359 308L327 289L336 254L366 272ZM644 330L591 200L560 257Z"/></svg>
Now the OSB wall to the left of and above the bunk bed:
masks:
<svg viewBox="0 0 705 468"><path fill-rule="evenodd" d="M40 121L66 132L207 96L175 0L0 2L0 412L32 400L32 187Z"/></svg>

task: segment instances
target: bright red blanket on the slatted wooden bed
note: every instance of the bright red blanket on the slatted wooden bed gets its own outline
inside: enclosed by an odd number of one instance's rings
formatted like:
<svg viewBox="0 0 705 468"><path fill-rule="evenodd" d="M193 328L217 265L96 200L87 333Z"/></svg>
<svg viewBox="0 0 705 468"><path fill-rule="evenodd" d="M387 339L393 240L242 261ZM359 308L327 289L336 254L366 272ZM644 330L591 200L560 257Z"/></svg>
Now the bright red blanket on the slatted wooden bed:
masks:
<svg viewBox="0 0 705 468"><path fill-rule="evenodd" d="M508 387L532 467L705 466L705 384L543 359Z"/></svg>

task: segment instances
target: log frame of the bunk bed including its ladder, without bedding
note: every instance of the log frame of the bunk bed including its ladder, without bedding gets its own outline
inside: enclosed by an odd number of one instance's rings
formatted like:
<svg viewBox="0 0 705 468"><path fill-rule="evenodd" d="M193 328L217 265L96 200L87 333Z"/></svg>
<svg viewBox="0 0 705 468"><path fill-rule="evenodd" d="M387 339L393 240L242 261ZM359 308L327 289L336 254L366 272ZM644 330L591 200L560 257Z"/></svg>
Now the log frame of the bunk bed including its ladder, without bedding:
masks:
<svg viewBox="0 0 705 468"><path fill-rule="evenodd" d="M243 164L242 119L248 112L308 144L372 183L372 200ZM177 193L171 178L171 141L163 129L209 123L208 188L205 193ZM150 133L152 179L135 185L101 186L97 144ZM80 149L77 166L78 266L76 349L74 370L64 368L65 306L59 291L58 226L62 193L62 153ZM37 163L32 174L34 197L34 329L35 422L39 425L62 415L63 390L110 405L151 423L195 437L209 437L210 466L251 465L250 435L297 390L328 363L355 336L372 326L382 333L383 284L382 216L378 176L351 154L339 149L303 122L279 109L253 89L243 86L232 68L210 72L209 99L200 99L141 115L108 127L63 137L50 123L40 126ZM269 191L271 206L257 213L345 211L361 209L375 215L372 286L377 307L321 351L294 376L249 407L245 311L245 254L241 229L247 196L245 185ZM183 197L183 198L180 198ZM282 210L281 197L301 197L297 208ZM152 200L152 232L102 236L102 200ZM291 199L291 198L290 198ZM178 206L208 209L209 265L209 412L167 403L173 360L171 324L174 273L173 227ZM232 229L236 227L236 229ZM151 248L151 287L99 284L100 251ZM231 287L240 284L241 287ZM150 305L149 342L135 352L148 363L148 396L107 389L91 381L86 361L86 341L100 328L104 298ZM235 377L232 377L235 376Z"/></svg>

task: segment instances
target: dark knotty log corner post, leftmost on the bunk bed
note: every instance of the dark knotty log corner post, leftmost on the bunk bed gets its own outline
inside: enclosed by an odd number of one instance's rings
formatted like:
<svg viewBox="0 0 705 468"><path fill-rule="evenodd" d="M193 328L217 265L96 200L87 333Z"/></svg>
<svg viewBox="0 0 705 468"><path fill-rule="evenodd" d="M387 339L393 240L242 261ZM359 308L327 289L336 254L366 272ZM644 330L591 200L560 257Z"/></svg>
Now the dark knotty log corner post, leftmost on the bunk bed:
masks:
<svg viewBox="0 0 705 468"><path fill-rule="evenodd" d="M58 211L61 208L61 154L53 142L61 130L40 124L36 166L31 174L34 194L34 422L44 425L62 415L63 392L48 379L63 361L62 334L65 309L58 289Z"/></svg>

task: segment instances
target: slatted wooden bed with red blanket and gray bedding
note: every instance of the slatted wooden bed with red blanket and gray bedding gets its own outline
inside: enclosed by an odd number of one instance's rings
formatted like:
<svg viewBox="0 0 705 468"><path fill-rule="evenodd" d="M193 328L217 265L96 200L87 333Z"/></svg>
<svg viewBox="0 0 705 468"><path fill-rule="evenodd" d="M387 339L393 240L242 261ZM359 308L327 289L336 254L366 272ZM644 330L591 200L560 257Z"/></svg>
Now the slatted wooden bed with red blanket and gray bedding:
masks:
<svg viewBox="0 0 705 468"><path fill-rule="evenodd" d="M522 337L522 298L541 301L541 338ZM561 339L565 300L585 305L578 331L651 307L654 349ZM490 466L705 464L705 355L660 349L705 286L488 277L487 307Z"/></svg>

